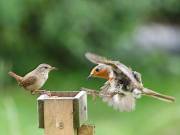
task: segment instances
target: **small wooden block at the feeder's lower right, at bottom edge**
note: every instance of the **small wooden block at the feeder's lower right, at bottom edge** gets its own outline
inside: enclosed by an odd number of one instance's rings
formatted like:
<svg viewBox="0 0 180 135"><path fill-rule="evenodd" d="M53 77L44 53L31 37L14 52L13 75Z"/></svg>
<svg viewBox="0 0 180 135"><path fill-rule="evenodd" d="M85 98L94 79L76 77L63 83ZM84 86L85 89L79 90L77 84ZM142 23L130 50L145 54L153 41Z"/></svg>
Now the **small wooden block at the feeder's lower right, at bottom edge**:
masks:
<svg viewBox="0 0 180 135"><path fill-rule="evenodd" d="M94 125L82 125L78 128L78 135L95 135Z"/></svg>

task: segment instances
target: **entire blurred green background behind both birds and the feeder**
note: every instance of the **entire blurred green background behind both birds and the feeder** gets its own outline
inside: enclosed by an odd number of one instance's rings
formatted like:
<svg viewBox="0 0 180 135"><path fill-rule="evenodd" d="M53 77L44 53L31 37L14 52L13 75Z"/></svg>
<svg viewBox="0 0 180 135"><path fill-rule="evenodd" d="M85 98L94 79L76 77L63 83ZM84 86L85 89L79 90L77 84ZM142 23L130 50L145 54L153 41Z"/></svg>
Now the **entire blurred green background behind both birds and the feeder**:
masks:
<svg viewBox="0 0 180 135"><path fill-rule="evenodd" d="M88 123L96 135L180 134L179 0L1 0L0 135L42 135L36 96L7 73L24 75L40 63L59 67L49 90L99 89L86 80L91 51L120 60L142 73L144 85L176 97L173 104L149 97L134 112L117 112L88 98Z"/></svg>

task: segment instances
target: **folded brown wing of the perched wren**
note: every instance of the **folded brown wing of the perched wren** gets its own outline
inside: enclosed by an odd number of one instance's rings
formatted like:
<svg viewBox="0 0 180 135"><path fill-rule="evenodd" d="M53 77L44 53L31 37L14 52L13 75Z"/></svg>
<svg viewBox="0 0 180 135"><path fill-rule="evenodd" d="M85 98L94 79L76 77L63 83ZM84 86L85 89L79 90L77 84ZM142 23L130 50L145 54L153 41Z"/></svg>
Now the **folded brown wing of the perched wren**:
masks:
<svg viewBox="0 0 180 135"><path fill-rule="evenodd" d="M33 85L36 81L37 81L36 76L30 76L26 78L25 80L22 80L22 82L20 83L20 86L28 87L30 85Z"/></svg>

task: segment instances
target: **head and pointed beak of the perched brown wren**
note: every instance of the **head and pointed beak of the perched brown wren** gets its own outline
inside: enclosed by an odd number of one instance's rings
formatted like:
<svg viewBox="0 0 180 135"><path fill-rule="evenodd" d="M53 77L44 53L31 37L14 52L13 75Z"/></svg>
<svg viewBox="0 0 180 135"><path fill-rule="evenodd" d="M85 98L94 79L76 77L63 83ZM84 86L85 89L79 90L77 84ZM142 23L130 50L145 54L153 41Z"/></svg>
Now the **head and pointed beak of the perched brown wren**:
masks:
<svg viewBox="0 0 180 135"><path fill-rule="evenodd" d="M49 73L49 72L52 71L52 70L57 70L57 68L56 68L56 67L52 67L52 66L50 66L50 65L48 65L48 64L40 64L40 65L36 68L36 70L37 70L38 72L41 72L41 73Z"/></svg>

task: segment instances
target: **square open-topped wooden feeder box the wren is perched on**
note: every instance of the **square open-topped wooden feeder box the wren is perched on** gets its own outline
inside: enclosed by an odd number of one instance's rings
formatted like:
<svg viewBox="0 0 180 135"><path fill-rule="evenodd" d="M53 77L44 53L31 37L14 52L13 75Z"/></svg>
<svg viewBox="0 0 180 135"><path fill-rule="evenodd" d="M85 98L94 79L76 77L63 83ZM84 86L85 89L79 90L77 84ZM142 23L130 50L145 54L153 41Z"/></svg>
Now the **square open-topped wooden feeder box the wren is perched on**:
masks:
<svg viewBox="0 0 180 135"><path fill-rule="evenodd" d="M38 98L39 128L44 128L45 135L94 135L82 134L90 129L83 125L87 120L85 91L52 92L51 95Z"/></svg>

